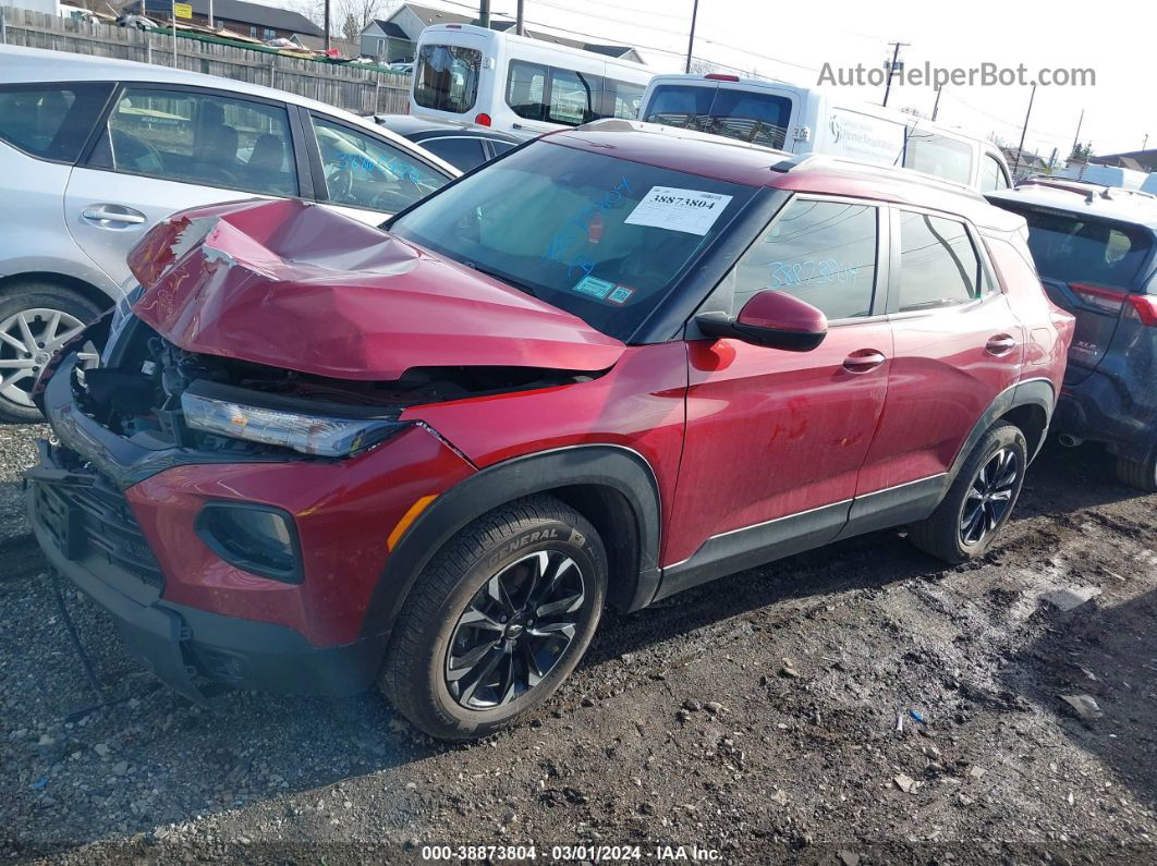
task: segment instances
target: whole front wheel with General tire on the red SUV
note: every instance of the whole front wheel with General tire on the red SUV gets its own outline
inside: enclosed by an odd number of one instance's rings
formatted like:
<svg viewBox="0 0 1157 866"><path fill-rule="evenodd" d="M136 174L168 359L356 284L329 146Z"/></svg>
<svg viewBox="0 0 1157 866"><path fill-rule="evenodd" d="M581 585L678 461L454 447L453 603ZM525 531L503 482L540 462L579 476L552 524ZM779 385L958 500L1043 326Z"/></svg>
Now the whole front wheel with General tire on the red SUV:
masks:
<svg viewBox="0 0 1157 866"><path fill-rule="evenodd" d="M606 598L602 539L577 511L530 496L470 524L419 576L378 674L430 737L494 733L578 664Z"/></svg>

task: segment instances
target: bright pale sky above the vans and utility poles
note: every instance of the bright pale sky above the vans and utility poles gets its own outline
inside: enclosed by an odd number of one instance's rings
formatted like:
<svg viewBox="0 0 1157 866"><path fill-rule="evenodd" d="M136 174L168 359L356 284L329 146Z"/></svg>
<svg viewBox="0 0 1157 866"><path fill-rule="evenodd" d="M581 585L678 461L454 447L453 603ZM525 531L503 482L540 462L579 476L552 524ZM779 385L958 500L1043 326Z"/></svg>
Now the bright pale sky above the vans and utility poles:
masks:
<svg viewBox="0 0 1157 866"><path fill-rule="evenodd" d="M477 8L422 0L456 12ZM388 10L399 0L385 0ZM683 72L693 0L525 0L528 24L581 34L594 42L639 47L656 72ZM1093 153L1157 148L1157 3L1122 0L1111 14L1088 3L1029 7L973 0L933 5L927 0L868 3L860 0L751 2L700 0L694 55L762 77L816 84L825 64L879 67L890 58L889 43L909 43L900 58L909 68L929 62L968 68L982 62L1000 67L1024 64L1030 79L1041 68L1088 68L1095 86L1038 87L1025 149L1047 160L1053 148L1063 160L1073 148L1077 123L1081 142ZM491 0L492 14L514 16L515 0ZM1015 10L1012 16L1010 10ZM385 17L379 15L378 17ZM883 88L848 88L856 98L878 103ZM937 123L973 135L998 135L1015 146L1020 138L1031 87L946 86ZM897 88L889 105L930 114L931 86Z"/></svg>

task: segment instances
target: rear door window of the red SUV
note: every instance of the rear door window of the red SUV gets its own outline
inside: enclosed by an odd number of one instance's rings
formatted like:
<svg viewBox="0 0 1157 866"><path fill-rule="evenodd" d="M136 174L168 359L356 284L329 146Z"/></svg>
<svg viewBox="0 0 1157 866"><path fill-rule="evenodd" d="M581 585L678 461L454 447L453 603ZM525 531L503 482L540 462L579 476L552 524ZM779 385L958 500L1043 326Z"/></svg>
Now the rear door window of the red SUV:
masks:
<svg viewBox="0 0 1157 866"><path fill-rule="evenodd" d="M900 212L899 312L980 297L980 259L964 223Z"/></svg>

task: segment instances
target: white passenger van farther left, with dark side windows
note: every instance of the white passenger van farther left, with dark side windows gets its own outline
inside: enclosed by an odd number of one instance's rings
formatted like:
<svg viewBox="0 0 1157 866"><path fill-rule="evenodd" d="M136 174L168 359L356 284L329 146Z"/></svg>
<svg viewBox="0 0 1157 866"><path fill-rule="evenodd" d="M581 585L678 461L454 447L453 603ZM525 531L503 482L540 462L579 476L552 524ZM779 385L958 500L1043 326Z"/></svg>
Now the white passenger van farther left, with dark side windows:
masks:
<svg viewBox="0 0 1157 866"><path fill-rule="evenodd" d="M651 73L594 51L434 24L418 39L410 113L533 138L604 117L634 119Z"/></svg>

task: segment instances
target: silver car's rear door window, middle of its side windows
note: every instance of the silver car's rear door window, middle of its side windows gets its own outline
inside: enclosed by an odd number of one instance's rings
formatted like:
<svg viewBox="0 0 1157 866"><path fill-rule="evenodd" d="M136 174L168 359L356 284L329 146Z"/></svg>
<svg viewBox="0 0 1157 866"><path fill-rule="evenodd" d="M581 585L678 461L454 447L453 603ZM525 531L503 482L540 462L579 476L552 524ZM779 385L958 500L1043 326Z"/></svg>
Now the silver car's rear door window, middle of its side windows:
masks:
<svg viewBox="0 0 1157 866"><path fill-rule="evenodd" d="M125 89L91 163L165 180L297 194L286 110L212 94Z"/></svg>

